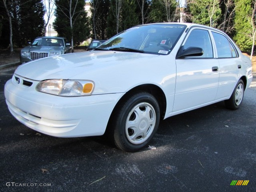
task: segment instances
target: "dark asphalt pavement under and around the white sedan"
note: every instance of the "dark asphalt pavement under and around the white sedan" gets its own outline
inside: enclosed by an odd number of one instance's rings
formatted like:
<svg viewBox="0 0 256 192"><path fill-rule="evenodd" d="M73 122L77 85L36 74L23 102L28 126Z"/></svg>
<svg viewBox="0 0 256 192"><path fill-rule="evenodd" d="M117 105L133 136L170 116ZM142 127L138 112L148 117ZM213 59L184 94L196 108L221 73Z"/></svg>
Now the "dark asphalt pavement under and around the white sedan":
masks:
<svg viewBox="0 0 256 192"><path fill-rule="evenodd" d="M126 153L104 137L57 138L19 123L3 92L14 69L0 70L0 191L256 191L255 78L239 110L219 102L173 116L149 143L155 150Z"/></svg>

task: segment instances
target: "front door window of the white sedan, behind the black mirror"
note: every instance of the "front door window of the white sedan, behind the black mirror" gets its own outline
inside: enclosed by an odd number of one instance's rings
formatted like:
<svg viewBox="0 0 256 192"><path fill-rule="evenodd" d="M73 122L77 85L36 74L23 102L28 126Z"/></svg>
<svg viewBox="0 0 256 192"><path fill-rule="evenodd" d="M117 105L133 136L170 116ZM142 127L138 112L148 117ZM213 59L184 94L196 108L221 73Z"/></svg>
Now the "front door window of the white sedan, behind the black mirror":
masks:
<svg viewBox="0 0 256 192"><path fill-rule="evenodd" d="M207 30L192 30L184 44L184 49L187 49L188 47L200 47L203 49L204 54L202 56L196 57L213 58L212 43L210 40L209 32Z"/></svg>

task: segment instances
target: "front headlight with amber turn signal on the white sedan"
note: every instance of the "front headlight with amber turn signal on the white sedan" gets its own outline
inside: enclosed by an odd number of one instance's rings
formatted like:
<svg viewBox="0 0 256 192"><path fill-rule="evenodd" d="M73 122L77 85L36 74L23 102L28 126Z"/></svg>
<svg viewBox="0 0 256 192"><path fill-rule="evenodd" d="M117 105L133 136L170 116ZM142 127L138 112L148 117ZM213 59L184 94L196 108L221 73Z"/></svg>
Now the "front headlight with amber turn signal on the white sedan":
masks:
<svg viewBox="0 0 256 192"><path fill-rule="evenodd" d="M94 82L88 80L50 79L37 84L36 90L64 97L91 95Z"/></svg>

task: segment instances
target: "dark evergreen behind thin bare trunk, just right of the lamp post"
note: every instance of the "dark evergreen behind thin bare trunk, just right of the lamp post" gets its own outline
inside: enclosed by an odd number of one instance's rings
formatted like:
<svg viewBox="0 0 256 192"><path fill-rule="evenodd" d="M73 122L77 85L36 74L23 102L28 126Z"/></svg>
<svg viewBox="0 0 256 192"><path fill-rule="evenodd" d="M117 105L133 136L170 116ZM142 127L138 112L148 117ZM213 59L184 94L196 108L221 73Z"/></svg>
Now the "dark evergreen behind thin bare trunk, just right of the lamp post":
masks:
<svg viewBox="0 0 256 192"><path fill-rule="evenodd" d="M81 42L89 38L90 28L89 19L86 11L84 10L84 0L78 0L76 10L74 10L76 2L76 0L73 0L71 5L71 15L74 13L72 17L72 28L70 25L69 1L66 0L55 1L56 19L52 25L60 37L66 37L67 40L71 42L73 36L74 45L79 45Z"/></svg>

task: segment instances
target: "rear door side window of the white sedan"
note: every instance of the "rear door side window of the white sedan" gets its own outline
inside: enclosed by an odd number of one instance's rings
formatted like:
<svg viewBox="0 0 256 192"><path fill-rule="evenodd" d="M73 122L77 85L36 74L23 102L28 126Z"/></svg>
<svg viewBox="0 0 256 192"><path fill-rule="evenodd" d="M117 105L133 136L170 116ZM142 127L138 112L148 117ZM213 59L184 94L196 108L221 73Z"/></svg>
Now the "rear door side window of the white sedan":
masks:
<svg viewBox="0 0 256 192"><path fill-rule="evenodd" d="M237 57L237 52L229 40L219 33L212 32L217 48L218 58Z"/></svg>

